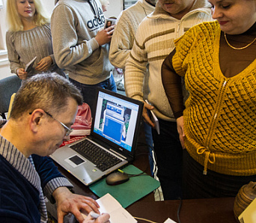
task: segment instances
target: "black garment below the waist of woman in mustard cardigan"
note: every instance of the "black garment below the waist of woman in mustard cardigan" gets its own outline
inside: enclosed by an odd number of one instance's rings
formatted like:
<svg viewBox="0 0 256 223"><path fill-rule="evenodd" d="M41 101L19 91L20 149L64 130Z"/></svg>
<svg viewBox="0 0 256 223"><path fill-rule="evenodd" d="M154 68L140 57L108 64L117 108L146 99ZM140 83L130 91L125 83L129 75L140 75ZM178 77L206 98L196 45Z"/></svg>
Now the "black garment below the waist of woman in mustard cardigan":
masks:
<svg viewBox="0 0 256 223"><path fill-rule="evenodd" d="M183 150L183 199L235 197L240 188L256 181L256 175L232 176L207 170Z"/></svg>

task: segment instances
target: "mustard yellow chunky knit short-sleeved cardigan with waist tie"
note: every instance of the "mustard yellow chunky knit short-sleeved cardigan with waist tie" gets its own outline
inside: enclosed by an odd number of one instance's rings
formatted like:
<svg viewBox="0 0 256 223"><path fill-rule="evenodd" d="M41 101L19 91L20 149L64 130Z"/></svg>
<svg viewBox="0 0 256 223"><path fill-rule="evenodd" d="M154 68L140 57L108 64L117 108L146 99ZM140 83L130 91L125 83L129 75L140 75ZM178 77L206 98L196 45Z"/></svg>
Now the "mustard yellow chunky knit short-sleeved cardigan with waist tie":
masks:
<svg viewBox="0 0 256 223"><path fill-rule="evenodd" d="M203 22L175 41L174 69L185 76L184 115L190 156L221 174L256 174L256 60L237 76L219 67L218 22Z"/></svg>

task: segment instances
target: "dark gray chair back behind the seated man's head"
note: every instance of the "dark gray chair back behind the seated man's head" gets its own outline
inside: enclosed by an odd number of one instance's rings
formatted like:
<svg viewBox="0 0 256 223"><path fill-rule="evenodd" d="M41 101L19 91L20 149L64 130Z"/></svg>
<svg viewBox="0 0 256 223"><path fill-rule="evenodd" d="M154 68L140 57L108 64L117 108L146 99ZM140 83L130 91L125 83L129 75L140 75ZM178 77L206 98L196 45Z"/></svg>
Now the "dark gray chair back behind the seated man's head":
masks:
<svg viewBox="0 0 256 223"><path fill-rule="evenodd" d="M19 90L21 82L17 76L8 76L0 80L0 113L4 119L4 113L9 109L10 97Z"/></svg>

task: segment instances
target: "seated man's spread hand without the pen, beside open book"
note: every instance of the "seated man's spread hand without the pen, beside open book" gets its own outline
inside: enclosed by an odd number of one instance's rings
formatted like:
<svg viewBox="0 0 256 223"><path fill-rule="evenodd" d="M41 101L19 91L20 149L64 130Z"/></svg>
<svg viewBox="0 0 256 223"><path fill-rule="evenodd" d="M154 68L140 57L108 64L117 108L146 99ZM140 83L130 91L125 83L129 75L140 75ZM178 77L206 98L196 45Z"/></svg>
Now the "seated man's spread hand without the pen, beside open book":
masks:
<svg viewBox="0 0 256 223"><path fill-rule="evenodd" d="M58 223L63 223L64 216L68 213L73 213L78 222L83 222L84 218L80 210L85 210L87 213L91 211L100 213L98 210L99 205L94 199L75 195L67 187L55 189L52 196L57 203Z"/></svg>

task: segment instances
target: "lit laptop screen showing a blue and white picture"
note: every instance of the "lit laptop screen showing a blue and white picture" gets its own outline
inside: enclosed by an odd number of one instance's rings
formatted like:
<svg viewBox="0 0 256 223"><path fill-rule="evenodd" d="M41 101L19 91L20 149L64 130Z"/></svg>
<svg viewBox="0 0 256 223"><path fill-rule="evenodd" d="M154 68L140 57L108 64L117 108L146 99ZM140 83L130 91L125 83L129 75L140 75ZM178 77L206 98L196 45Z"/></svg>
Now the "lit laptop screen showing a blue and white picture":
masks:
<svg viewBox="0 0 256 223"><path fill-rule="evenodd" d="M99 91L94 133L131 151L138 109L138 104Z"/></svg>

